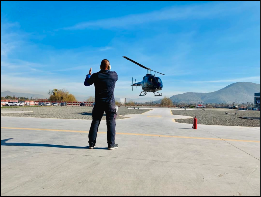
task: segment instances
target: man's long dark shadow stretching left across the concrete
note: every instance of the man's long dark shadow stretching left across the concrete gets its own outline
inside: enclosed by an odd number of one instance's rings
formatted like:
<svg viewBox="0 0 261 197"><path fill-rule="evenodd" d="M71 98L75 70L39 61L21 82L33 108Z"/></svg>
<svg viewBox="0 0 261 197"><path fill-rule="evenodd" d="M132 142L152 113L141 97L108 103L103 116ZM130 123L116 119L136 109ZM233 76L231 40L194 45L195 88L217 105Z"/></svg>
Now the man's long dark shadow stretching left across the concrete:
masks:
<svg viewBox="0 0 261 197"><path fill-rule="evenodd" d="M19 146L19 147L53 147L53 148L70 148L70 149L89 149L90 147L75 147L75 146L64 146L64 145L53 145L53 144L31 144L31 143L6 143L8 140L14 138L3 139L1 140L1 146ZM105 150L108 148L94 148Z"/></svg>

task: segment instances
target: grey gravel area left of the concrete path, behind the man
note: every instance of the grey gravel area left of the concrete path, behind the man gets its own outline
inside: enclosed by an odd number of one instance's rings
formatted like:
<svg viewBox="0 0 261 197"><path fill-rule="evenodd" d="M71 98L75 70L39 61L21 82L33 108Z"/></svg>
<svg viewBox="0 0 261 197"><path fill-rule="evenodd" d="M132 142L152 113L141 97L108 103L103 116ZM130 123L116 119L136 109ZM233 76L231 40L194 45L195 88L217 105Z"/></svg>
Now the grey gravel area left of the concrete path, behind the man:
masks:
<svg viewBox="0 0 261 197"><path fill-rule="evenodd" d="M118 117L117 119L124 119L126 117L120 117L119 115L128 115L128 114L142 114L146 111L145 109L131 110L127 109L128 107L119 107L118 108ZM92 107L24 107L24 108L8 108L1 109L1 111L33 111L31 113L1 113L1 116L15 116L15 117L36 117L36 118L58 118L58 119L82 119L82 120L92 120ZM104 116L102 120L106 120Z"/></svg>

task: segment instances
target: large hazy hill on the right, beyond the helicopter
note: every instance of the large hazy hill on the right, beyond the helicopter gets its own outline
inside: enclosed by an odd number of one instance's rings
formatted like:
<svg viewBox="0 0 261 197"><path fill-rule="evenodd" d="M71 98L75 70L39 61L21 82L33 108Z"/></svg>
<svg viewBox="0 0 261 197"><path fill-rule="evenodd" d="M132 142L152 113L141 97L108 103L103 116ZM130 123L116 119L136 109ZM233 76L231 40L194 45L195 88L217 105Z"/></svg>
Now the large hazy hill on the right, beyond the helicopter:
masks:
<svg viewBox="0 0 261 197"><path fill-rule="evenodd" d="M254 93L260 92L260 84L250 82L233 83L221 90L210 93L177 94L170 97L178 103L247 103L254 102Z"/></svg>

